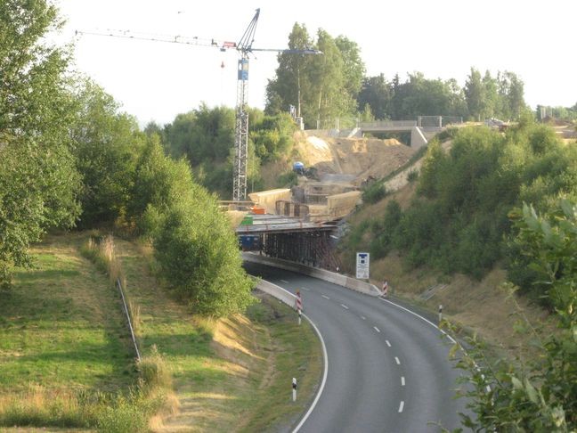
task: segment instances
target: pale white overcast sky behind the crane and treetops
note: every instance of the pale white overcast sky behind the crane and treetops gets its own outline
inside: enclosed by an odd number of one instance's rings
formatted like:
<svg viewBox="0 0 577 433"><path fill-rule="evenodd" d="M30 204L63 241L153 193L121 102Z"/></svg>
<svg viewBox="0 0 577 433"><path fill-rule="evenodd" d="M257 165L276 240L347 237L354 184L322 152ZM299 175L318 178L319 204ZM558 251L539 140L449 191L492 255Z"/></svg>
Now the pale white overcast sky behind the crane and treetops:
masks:
<svg viewBox="0 0 577 433"><path fill-rule="evenodd" d="M238 42L256 8L254 48L288 46L293 25L314 37L324 29L361 50L366 75L422 72L465 85L471 67L496 76L515 72L524 96L537 104L571 107L577 102L574 67L575 0L53 0L66 20L59 43L73 43L75 69L92 78L144 126L170 123L179 113L225 105L237 98L239 53L206 46L167 44L79 31L128 30L169 37ZM248 104L264 109L265 87L278 66L275 53L250 58ZM439 113L443 114L443 113Z"/></svg>

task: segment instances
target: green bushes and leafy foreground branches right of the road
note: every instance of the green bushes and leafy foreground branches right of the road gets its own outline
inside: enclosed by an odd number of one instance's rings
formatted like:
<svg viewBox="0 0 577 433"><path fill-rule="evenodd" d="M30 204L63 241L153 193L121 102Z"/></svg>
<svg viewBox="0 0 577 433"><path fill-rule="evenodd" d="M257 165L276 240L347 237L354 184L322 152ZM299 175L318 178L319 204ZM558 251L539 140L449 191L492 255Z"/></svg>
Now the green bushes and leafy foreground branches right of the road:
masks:
<svg viewBox="0 0 577 433"><path fill-rule="evenodd" d="M441 141L449 139L446 151ZM475 416L463 414L463 425L474 431L573 431L577 147L525 116L505 133L488 127L444 132L429 144L419 176L411 177L417 196L410 205L389 200L381 215L352 227L341 247L368 248L375 258L396 251L409 272L425 267L480 280L495 266L505 267L511 294L554 313L559 331L540 334L517 312L517 331L530 334L535 355L495 364L487 361L483 341L466 338L458 362L467 371L461 393ZM370 188L382 190L382 184ZM377 201L381 196L369 194Z"/></svg>

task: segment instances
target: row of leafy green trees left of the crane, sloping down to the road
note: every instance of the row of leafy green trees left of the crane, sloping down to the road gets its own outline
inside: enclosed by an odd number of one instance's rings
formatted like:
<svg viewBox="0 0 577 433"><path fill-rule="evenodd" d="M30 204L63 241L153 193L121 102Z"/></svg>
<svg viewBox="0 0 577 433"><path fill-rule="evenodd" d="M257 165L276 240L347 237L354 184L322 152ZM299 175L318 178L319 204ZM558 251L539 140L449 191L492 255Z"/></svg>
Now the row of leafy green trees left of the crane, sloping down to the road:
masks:
<svg viewBox="0 0 577 433"><path fill-rule="evenodd" d="M60 26L43 0L0 4L0 285L33 265L28 247L45 233L115 227L152 242L159 277L194 312L242 311L252 282L215 195L70 71L69 49L45 38Z"/></svg>

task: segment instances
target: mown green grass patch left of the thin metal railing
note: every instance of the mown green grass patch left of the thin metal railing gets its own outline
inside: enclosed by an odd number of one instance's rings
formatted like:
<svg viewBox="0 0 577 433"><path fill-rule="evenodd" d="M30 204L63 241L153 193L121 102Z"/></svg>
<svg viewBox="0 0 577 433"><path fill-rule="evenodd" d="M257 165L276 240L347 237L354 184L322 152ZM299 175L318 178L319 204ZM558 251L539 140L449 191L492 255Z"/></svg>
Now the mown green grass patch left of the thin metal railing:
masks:
<svg viewBox="0 0 577 433"><path fill-rule="evenodd" d="M0 293L0 393L46 388L114 390L134 380L133 352L108 277L81 257L78 235L50 237L37 268Z"/></svg>

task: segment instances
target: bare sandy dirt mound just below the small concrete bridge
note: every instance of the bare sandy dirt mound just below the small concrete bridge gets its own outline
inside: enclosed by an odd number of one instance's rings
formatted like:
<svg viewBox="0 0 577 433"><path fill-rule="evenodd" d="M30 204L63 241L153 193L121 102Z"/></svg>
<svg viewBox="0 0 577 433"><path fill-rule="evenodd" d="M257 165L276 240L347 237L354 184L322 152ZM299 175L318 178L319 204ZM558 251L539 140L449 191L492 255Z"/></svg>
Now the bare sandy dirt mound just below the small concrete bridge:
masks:
<svg viewBox="0 0 577 433"><path fill-rule="evenodd" d="M300 135L296 151L306 167L327 174L353 175L359 185L370 176L380 178L410 159L415 152L395 139L333 138Z"/></svg>

